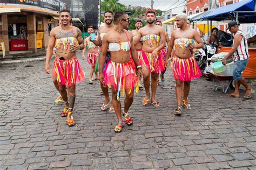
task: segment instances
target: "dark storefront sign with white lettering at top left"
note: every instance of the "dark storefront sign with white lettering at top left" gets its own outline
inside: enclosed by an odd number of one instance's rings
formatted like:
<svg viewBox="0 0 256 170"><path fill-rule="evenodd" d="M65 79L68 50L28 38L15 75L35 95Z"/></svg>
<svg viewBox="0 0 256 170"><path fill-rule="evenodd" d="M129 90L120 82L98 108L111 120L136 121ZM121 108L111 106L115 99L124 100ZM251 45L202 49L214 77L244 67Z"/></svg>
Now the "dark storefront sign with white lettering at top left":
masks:
<svg viewBox="0 0 256 170"><path fill-rule="evenodd" d="M59 1L56 0L0 0L0 3L33 5L55 11L60 11Z"/></svg>

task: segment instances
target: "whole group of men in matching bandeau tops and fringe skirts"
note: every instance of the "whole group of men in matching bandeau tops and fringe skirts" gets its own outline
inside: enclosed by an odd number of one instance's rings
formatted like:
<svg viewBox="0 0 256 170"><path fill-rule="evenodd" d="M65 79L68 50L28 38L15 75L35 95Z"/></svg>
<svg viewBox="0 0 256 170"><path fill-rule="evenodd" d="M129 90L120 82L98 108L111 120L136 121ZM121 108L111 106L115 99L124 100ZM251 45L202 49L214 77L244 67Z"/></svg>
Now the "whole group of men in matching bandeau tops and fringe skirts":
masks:
<svg viewBox="0 0 256 170"><path fill-rule="evenodd" d="M160 74L161 81L164 81L164 72L170 60L176 80L177 108L174 114L180 115L182 107L191 109L190 104L187 103L190 81L201 76L193 57L193 50L203 47L203 41L196 30L190 29L185 13L176 16L178 29L172 32L171 40L161 27L161 22L156 22L156 10L153 9L146 10L147 25L143 27L142 20L137 20L136 30L131 32L126 31L130 24L126 12L119 11L114 14L112 11L105 11L105 25L99 28L98 37L95 39L88 37L85 41L81 31L69 24L70 19L68 10L60 11L61 24L50 33L45 64L45 72L50 73L49 61L52 49L55 47L57 52L52 69L53 79L59 84L58 90L65 102L62 116L67 116L66 122L69 126L75 125L72 110L76 97L76 83L84 80L84 72L75 52L84 49L85 46L89 48L87 61L91 65L89 83L92 83L92 75L98 59L99 76L96 74L96 78L99 78L105 96L101 109L106 110L110 105L109 112L116 112L118 121L114 128L115 132L122 131L124 126L122 115L127 125L133 123L129 108L133 102L134 89L138 92L141 77L146 92L142 104L160 106L156 99L158 76ZM93 27L89 27L88 31L93 33ZM169 42L167 52L166 42ZM99 51L98 47L100 47ZM83 59L85 59L84 52ZM109 97L109 86L112 90L112 100ZM123 96L125 94L123 111L120 103L121 93Z"/></svg>

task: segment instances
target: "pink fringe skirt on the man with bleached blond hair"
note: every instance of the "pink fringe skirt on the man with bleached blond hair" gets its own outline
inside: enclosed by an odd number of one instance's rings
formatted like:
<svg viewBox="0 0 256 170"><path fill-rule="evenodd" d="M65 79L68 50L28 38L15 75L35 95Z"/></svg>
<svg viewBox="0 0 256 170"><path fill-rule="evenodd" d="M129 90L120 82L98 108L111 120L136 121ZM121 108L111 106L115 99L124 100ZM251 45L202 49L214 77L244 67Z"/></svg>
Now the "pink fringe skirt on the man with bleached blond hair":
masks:
<svg viewBox="0 0 256 170"><path fill-rule="evenodd" d="M181 59L173 56L172 72L175 80L191 81L200 77L201 71L194 56L188 59Z"/></svg>

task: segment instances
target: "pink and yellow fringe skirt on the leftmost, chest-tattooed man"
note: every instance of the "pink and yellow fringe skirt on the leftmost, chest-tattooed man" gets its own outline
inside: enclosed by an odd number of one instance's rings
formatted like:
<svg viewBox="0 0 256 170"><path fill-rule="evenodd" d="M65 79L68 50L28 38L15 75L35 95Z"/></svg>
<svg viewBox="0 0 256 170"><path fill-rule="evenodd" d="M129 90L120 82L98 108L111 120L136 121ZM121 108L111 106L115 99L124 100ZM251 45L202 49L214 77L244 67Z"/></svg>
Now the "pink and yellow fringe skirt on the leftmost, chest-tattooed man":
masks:
<svg viewBox="0 0 256 170"><path fill-rule="evenodd" d="M84 71L76 58L69 60L55 59L52 66L52 77L64 86L73 86L85 80Z"/></svg>

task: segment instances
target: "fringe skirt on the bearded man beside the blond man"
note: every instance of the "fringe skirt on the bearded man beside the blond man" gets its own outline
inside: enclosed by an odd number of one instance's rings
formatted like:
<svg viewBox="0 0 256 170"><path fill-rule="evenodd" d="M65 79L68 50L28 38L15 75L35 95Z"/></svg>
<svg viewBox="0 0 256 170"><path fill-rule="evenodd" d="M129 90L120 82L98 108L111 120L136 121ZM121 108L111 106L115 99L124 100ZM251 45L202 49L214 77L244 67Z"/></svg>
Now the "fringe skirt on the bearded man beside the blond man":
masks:
<svg viewBox="0 0 256 170"><path fill-rule="evenodd" d="M146 66L151 73L161 73L165 70L164 55L160 51L155 58L153 58L152 53L142 51L140 63Z"/></svg>

